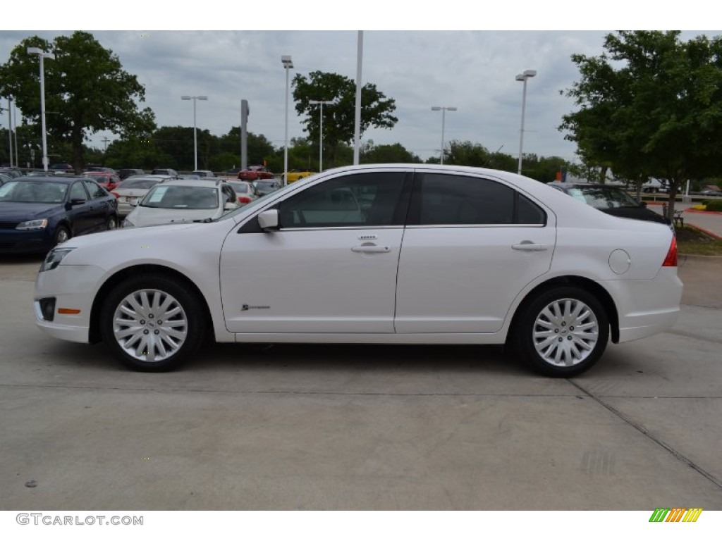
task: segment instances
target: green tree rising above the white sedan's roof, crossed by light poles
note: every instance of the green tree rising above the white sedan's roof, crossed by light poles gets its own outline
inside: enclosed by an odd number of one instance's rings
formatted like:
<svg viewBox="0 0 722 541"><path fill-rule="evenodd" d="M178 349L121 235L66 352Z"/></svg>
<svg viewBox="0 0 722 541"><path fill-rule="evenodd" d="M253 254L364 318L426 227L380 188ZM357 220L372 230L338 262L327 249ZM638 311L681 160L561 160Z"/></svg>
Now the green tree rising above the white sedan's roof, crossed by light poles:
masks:
<svg viewBox="0 0 722 541"><path fill-rule="evenodd" d="M352 144L355 131L356 83L353 79L324 71L312 71L308 78L297 74L293 78L293 100L296 112L305 115L304 131L311 141L320 139L319 105L311 100L333 101L323 106L323 149L324 162L329 167L336 164L336 152L341 144ZM380 92L375 84L367 83L361 89L360 133L368 128L391 129L399 121L393 116L396 102Z"/></svg>

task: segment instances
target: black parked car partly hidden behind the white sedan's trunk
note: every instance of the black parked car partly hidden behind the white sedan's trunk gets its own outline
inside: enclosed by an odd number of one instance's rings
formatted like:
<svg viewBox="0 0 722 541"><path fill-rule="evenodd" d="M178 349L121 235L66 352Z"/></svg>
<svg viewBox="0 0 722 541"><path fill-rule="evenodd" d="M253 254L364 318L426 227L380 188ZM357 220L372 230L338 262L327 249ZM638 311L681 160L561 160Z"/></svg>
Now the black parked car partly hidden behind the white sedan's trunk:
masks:
<svg viewBox="0 0 722 541"><path fill-rule="evenodd" d="M619 216L620 218L656 221L671 226L671 221L668 218L650 210L647 208L647 203L640 203L618 186L583 184L580 182L551 182L548 185L606 214Z"/></svg>

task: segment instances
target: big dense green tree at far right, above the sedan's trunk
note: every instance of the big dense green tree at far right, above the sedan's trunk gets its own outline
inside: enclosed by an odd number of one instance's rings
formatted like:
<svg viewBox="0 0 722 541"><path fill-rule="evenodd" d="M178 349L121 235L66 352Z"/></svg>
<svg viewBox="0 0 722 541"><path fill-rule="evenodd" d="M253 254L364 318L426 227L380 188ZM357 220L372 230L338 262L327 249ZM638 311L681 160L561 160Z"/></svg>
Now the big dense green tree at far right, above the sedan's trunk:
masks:
<svg viewBox="0 0 722 541"><path fill-rule="evenodd" d="M679 32L606 35L601 56L574 55L575 113L560 126L588 165L669 184L669 211L686 180L722 170L722 38Z"/></svg>

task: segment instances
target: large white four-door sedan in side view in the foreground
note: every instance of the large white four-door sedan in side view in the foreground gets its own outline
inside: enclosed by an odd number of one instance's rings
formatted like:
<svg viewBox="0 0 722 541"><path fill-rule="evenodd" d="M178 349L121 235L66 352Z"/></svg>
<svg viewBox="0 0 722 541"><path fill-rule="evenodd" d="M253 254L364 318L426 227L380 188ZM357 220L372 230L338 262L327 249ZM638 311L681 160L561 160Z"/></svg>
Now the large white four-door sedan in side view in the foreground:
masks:
<svg viewBox="0 0 722 541"><path fill-rule="evenodd" d="M161 371L218 342L507 344L570 377L677 320L677 242L513 173L329 170L217 221L52 250L35 316Z"/></svg>

